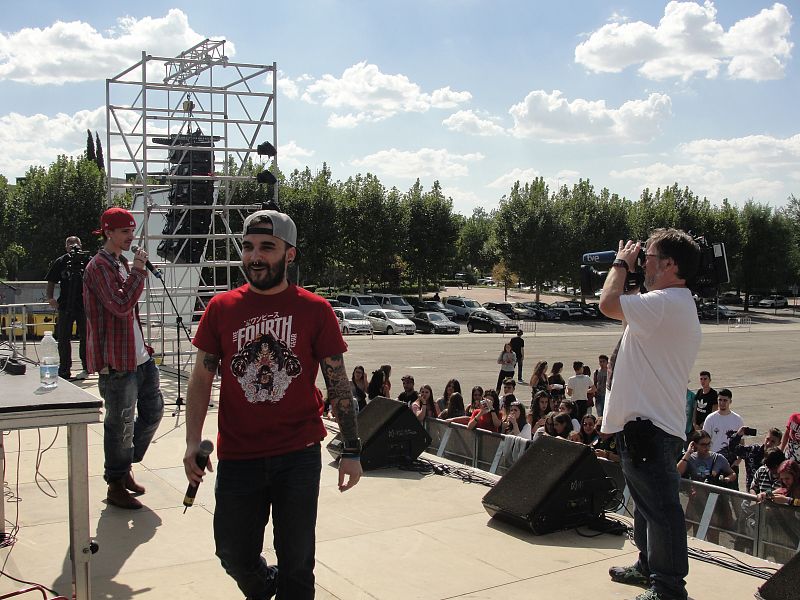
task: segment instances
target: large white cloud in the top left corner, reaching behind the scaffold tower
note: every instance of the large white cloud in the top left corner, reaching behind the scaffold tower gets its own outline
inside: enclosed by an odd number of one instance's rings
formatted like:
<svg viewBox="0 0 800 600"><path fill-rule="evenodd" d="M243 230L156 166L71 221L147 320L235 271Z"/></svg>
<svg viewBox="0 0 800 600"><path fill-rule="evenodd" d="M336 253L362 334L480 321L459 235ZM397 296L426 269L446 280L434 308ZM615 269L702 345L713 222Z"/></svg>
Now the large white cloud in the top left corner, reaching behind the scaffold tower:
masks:
<svg viewBox="0 0 800 600"><path fill-rule="evenodd" d="M206 37L175 8L160 18L122 17L106 34L83 21L57 21L0 33L0 80L42 85L105 79L140 60L142 50L175 56ZM225 53L234 53L230 42Z"/></svg>

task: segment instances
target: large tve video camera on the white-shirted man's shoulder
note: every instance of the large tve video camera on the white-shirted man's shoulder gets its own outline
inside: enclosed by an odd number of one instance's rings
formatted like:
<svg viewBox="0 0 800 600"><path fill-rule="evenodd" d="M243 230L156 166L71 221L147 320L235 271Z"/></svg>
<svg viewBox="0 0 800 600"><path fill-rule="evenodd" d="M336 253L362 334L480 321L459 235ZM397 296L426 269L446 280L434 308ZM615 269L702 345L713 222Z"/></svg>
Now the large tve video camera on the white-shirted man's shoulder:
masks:
<svg viewBox="0 0 800 600"><path fill-rule="evenodd" d="M725 254L725 244L722 242L710 243L705 236L694 238L700 246L700 265L697 275L691 281L687 281L687 287L692 294L700 298L710 298L716 296L717 289L723 283L730 282L728 271L728 257ZM645 254L645 243L639 242L641 250L636 257L636 265L633 271L628 272L625 280L624 290L627 292L639 288L642 292L647 289L644 286L644 263L647 260ZM617 256L616 250L604 252L587 252L581 261L581 293L584 296L594 295L596 290L603 287L608 269Z"/></svg>

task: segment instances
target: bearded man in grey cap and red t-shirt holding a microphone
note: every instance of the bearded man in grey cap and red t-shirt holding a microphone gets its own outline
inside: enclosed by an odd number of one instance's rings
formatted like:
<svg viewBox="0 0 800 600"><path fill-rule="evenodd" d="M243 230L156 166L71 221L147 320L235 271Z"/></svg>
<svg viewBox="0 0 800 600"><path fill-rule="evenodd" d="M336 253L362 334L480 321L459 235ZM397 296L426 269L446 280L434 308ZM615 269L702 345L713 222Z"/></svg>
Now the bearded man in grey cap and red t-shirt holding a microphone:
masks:
<svg viewBox="0 0 800 600"><path fill-rule="evenodd" d="M322 372L344 439L339 489L361 477L347 345L330 305L289 283L297 228L261 210L244 221L242 268L248 284L209 302L197 327L197 360L186 401L186 476L204 470L197 450L219 372L219 462L214 540L225 571L248 598L314 597L314 544L325 427L315 387ZM211 470L209 464L208 470ZM277 566L261 556L273 514Z"/></svg>

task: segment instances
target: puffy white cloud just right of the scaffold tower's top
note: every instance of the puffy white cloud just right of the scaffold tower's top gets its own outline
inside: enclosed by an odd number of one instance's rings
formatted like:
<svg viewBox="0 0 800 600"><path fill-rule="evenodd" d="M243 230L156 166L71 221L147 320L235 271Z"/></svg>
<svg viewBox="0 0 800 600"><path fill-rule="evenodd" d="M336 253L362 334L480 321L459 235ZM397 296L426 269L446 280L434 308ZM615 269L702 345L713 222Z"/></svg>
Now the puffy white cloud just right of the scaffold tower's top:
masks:
<svg viewBox="0 0 800 600"><path fill-rule="evenodd" d="M355 127L398 113L453 108L469 101L472 95L450 87L425 93L405 75L382 73L376 65L362 61L345 69L341 77L323 75L310 83L301 97L336 111L328 120L330 127Z"/></svg>

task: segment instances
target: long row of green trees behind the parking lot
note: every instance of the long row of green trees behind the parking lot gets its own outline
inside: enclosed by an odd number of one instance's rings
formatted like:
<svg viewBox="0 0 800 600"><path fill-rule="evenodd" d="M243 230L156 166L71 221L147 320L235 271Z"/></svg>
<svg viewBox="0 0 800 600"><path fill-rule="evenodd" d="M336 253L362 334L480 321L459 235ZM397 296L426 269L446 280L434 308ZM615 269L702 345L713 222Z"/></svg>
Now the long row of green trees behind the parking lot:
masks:
<svg viewBox="0 0 800 600"><path fill-rule="evenodd" d="M91 137L87 132L81 157L30 167L16 186L0 176L0 277L42 279L69 234L84 249L98 247L92 231L106 206L105 176ZM260 169L241 166L245 175ZM417 180L401 191L370 173L335 180L327 165L275 175L281 210L297 223L299 277L306 285L419 292L460 272L536 289L555 282L577 288L584 253L615 250L620 239L646 240L656 227L724 242L732 289L786 291L800 282L800 200L794 196L781 208L754 200L712 205L676 183L629 200L598 191L589 180L552 190L536 178L516 182L498 208L465 216L454 212L438 181L425 189ZM271 186L253 180L237 185L230 202L271 197ZM238 231L233 223L231 229Z"/></svg>

